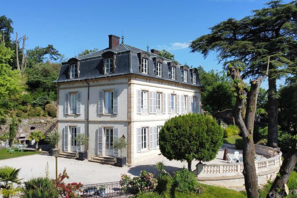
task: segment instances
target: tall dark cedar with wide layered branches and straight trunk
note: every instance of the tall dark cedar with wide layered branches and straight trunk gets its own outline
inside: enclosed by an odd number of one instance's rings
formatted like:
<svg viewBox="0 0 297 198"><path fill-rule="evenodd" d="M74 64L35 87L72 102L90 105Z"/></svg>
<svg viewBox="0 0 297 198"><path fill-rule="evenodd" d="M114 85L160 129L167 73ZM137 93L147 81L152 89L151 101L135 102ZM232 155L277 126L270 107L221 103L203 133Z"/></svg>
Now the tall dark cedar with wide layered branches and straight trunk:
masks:
<svg viewBox="0 0 297 198"><path fill-rule="evenodd" d="M241 20L230 18L213 26L211 33L191 42L192 52L207 57L211 51L217 53L219 63L225 69L228 63L244 69L243 78L260 75L266 67L267 56L271 56L268 75L268 145L277 146L277 88L276 79L293 73L293 60L297 46L296 1L281 4L271 1L268 7L253 11L252 16ZM296 67L296 66L295 66Z"/></svg>

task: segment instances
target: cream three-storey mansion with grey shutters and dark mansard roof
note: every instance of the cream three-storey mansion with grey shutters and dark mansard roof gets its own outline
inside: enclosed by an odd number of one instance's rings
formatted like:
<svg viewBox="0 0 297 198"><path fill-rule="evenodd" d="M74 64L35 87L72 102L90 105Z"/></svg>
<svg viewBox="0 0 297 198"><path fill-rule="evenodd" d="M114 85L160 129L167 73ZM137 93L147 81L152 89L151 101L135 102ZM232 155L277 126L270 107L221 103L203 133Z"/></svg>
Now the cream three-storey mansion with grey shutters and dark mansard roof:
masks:
<svg viewBox="0 0 297 198"><path fill-rule="evenodd" d="M202 87L196 68L108 37L108 48L62 63L55 81L59 148L81 151L74 137L83 133L89 136L89 158L118 156L113 141L125 137L122 156L135 164L160 154L158 136L166 120L200 112Z"/></svg>

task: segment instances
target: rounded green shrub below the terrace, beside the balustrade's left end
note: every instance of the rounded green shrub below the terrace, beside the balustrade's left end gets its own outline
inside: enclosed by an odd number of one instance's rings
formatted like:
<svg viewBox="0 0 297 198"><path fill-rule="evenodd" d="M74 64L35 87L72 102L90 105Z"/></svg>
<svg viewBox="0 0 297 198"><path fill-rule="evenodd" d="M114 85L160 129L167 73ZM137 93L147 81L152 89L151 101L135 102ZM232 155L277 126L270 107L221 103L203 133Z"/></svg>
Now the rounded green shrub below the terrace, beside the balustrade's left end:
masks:
<svg viewBox="0 0 297 198"><path fill-rule="evenodd" d="M197 181L195 175L186 168L176 171L173 176L173 183L179 192L196 191Z"/></svg>

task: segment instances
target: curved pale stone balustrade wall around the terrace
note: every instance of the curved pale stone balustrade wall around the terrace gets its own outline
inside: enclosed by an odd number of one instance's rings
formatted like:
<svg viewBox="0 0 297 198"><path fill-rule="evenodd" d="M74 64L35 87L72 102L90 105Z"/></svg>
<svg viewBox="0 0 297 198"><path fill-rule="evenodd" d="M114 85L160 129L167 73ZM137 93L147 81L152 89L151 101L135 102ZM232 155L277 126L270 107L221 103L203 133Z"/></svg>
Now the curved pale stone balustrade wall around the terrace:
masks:
<svg viewBox="0 0 297 198"><path fill-rule="evenodd" d="M257 154L264 155L268 159L255 161L258 184L265 185L268 180L274 180L282 165L282 153L274 148L256 145ZM196 179L202 183L221 186L225 188L244 187L243 163L225 164L197 164L194 174Z"/></svg>

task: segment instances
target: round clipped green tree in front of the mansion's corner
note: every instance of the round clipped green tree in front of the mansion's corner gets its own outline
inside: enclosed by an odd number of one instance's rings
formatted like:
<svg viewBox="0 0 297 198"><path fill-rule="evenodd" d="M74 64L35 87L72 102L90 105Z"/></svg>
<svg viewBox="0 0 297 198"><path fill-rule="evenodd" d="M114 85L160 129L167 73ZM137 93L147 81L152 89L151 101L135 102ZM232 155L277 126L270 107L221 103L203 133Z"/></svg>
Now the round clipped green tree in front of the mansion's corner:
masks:
<svg viewBox="0 0 297 198"><path fill-rule="evenodd" d="M223 144L223 130L208 115L187 114L167 120L159 133L159 148L169 160L211 161Z"/></svg>

